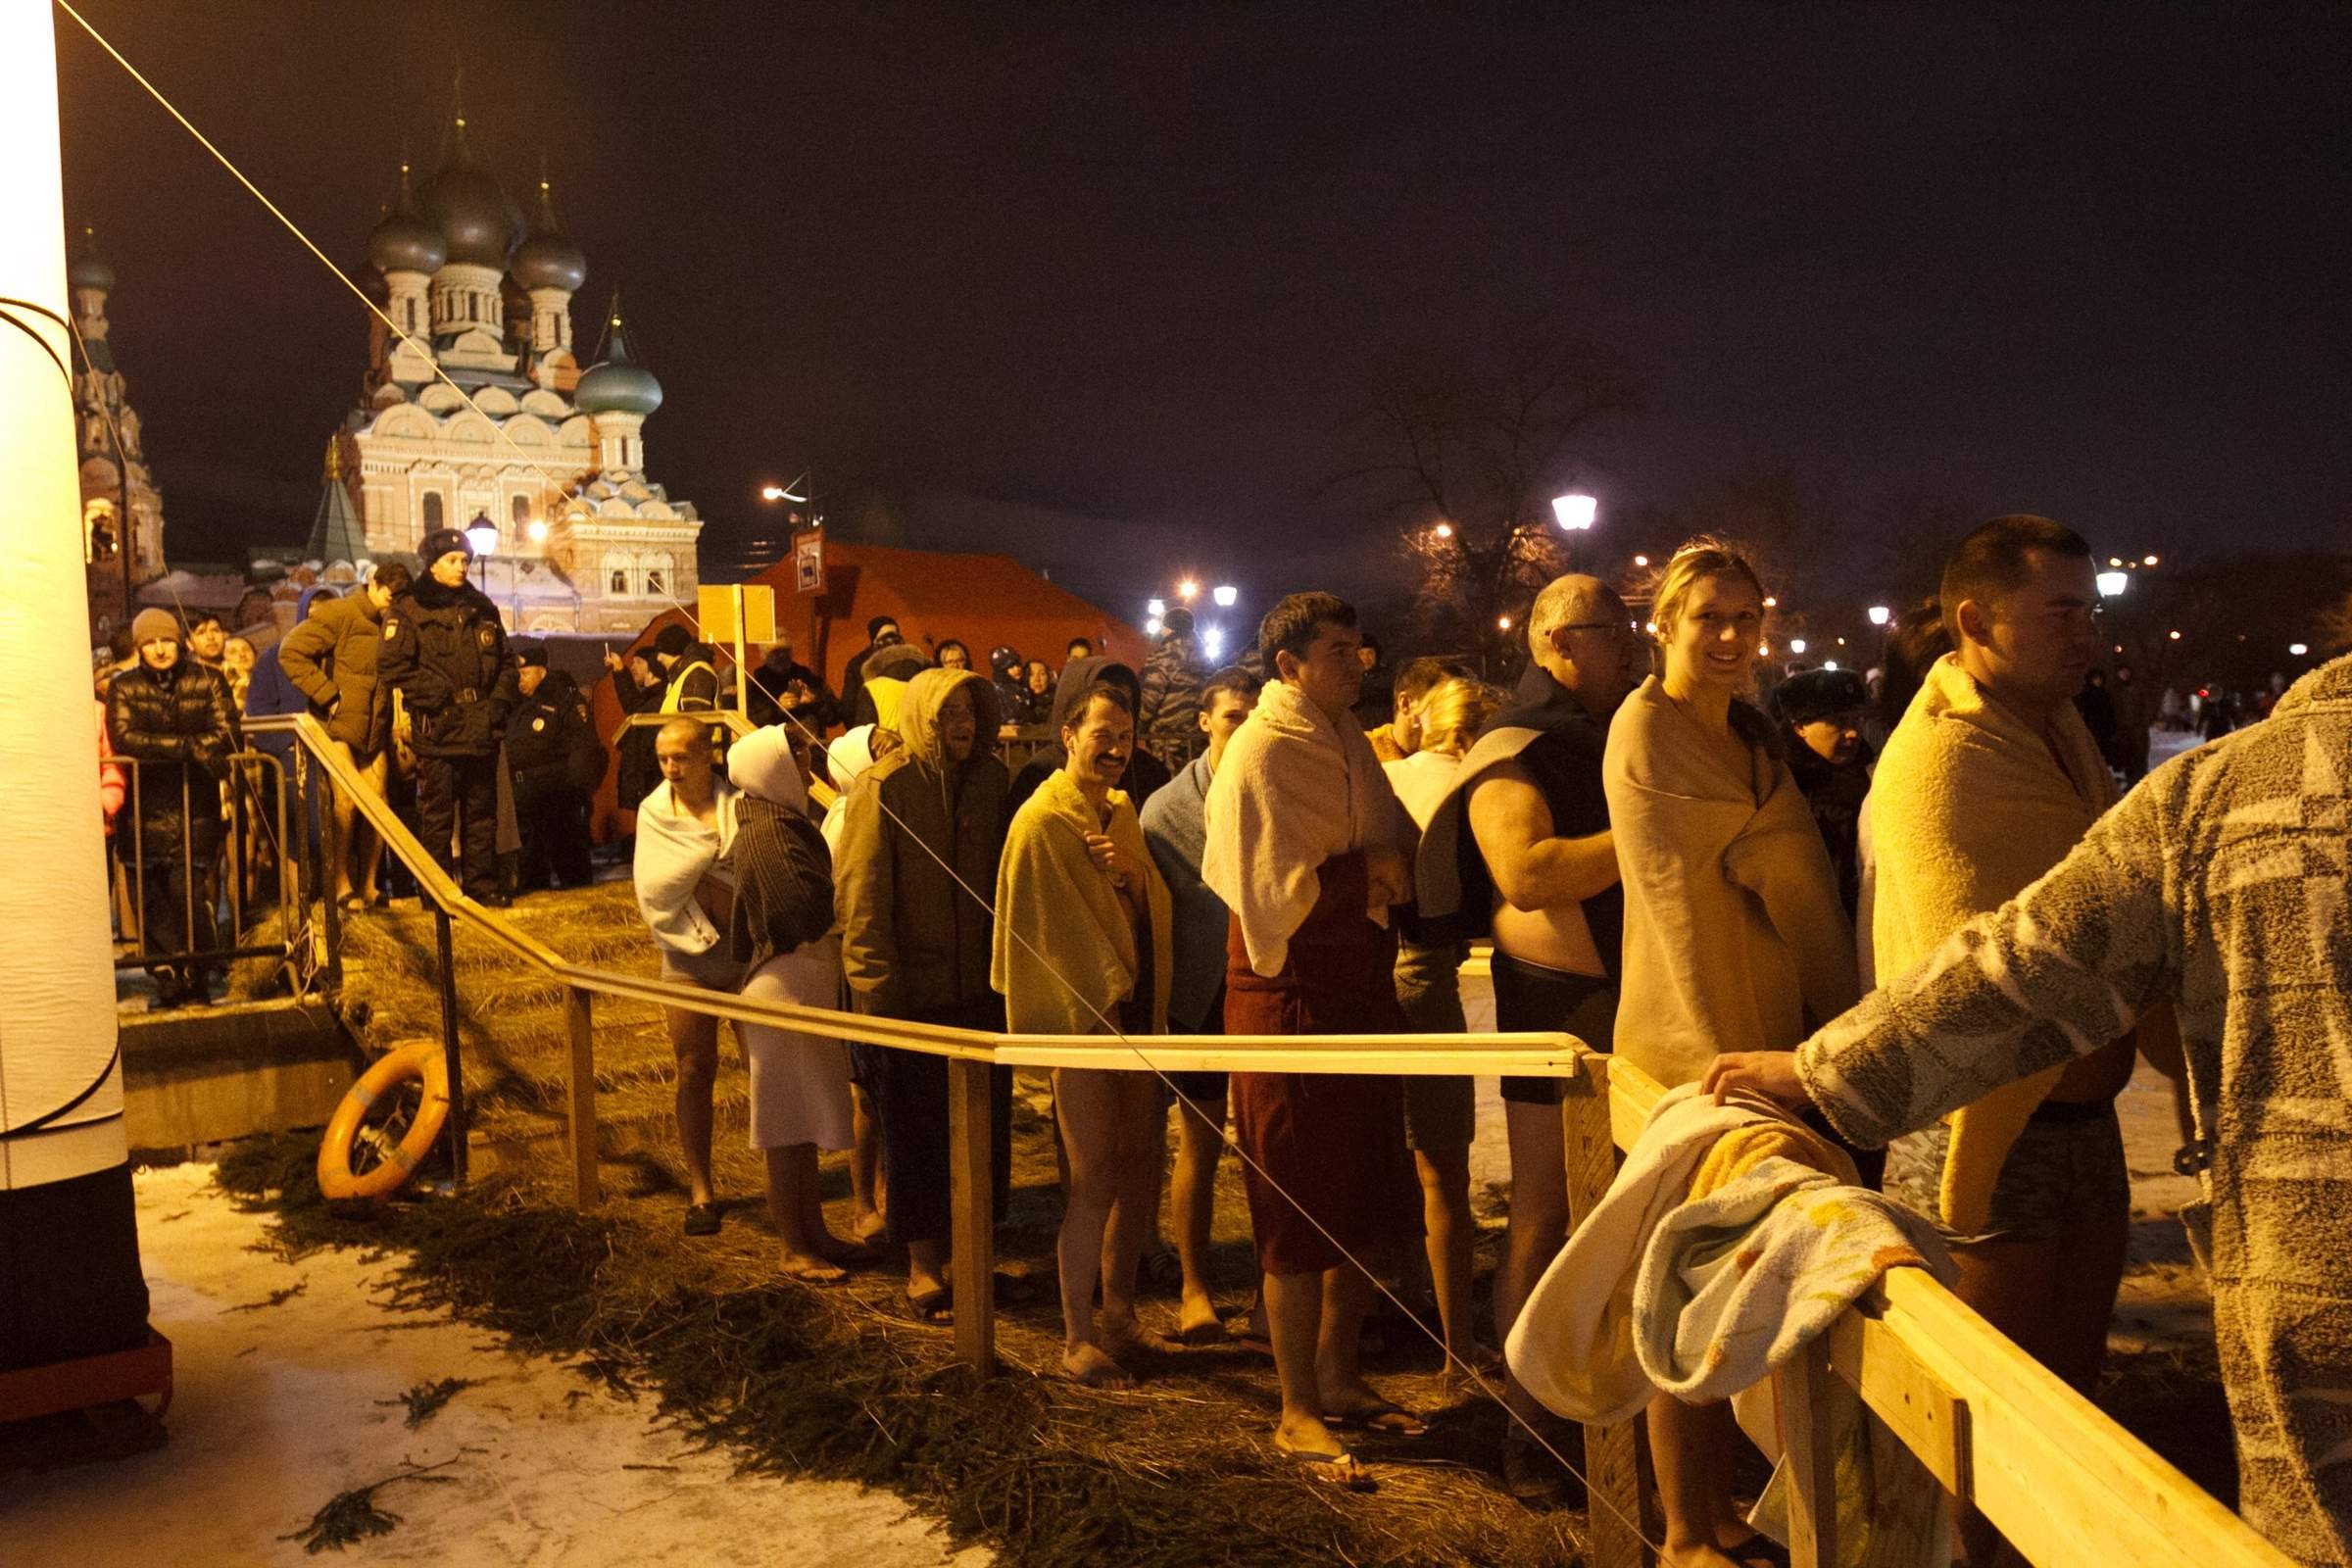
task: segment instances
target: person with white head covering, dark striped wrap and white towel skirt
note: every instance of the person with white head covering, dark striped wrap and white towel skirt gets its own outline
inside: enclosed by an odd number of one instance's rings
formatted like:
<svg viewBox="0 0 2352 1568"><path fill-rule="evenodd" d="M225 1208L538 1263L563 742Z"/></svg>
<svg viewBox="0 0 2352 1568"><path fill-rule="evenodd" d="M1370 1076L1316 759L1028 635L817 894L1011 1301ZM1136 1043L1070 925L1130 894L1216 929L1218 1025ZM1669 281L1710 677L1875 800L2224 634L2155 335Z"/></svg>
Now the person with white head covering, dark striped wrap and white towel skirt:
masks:
<svg viewBox="0 0 2352 1568"><path fill-rule="evenodd" d="M809 792L793 738L774 724L727 752L736 795L729 922L731 954L746 966L743 997L840 1006L842 943L833 931L833 856L809 820ZM847 1150L849 1048L826 1034L739 1025L750 1067L750 1147L767 1154L767 1211L783 1244L783 1272L833 1284L844 1262L873 1253L826 1229L816 1152Z"/></svg>

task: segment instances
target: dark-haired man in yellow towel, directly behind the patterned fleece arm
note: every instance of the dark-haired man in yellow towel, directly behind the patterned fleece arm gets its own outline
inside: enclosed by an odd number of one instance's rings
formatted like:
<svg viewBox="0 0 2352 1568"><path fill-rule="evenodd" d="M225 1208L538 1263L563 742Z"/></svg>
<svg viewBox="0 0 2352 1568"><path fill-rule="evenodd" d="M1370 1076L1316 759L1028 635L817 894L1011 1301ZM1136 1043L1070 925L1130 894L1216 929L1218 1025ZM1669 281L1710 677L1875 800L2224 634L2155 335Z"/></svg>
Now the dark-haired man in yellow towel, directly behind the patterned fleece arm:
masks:
<svg viewBox="0 0 2352 1568"><path fill-rule="evenodd" d="M1952 651L1886 738L1872 780L1872 950L1898 976L2058 865L2114 804L2074 708L2103 635L2091 545L1997 517L1943 574ZM2082 1392L2098 1382L2124 1274L2131 1178L2114 1095L2131 1037L1896 1138L1886 1194L1952 1241L1955 1293ZM1990 1526L1966 1519L1971 1556Z"/></svg>

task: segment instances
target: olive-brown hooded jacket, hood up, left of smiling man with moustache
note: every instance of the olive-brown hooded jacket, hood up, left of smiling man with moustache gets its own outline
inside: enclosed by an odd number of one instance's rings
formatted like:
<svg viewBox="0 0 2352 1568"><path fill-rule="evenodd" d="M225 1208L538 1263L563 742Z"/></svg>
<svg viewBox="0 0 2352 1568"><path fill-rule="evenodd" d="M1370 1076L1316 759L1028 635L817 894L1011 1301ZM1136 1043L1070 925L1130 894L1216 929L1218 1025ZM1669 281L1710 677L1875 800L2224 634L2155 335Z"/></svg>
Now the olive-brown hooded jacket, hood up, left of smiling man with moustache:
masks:
<svg viewBox="0 0 2352 1568"><path fill-rule="evenodd" d="M938 736L938 710L957 689L978 722L964 762L950 762ZM842 971L858 1011L882 1018L990 997L995 919L985 900L1011 818L995 755L997 698L985 679L924 670L908 682L898 736L901 750L866 769L849 792L833 860Z"/></svg>

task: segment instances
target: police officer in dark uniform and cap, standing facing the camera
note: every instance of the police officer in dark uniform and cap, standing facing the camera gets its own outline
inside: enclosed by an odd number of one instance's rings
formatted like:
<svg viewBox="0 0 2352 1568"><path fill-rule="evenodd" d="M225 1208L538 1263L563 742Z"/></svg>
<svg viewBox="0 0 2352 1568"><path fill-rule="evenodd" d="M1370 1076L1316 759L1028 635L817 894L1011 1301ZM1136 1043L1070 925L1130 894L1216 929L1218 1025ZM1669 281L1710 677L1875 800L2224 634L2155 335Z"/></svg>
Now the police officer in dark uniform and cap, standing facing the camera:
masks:
<svg viewBox="0 0 2352 1568"><path fill-rule="evenodd" d="M423 536L426 564L383 611L376 675L400 691L416 748L416 818L426 849L475 903L499 893L499 741L515 705L515 661L499 607L466 581L473 545L456 529ZM449 839L459 856L452 863Z"/></svg>

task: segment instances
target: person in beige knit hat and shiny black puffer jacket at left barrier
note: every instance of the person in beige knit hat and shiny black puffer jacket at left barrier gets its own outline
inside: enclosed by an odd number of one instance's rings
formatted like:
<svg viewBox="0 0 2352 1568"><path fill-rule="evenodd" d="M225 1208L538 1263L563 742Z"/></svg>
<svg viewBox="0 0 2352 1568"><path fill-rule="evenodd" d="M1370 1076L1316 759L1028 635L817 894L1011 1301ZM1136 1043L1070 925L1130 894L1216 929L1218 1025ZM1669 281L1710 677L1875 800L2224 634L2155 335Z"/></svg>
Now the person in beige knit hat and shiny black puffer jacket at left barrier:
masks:
<svg viewBox="0 0 2352 1568"><path fill-rule="evenodd" d="M221 945L212 924L212 870L221 858L221 783L238 750L228 682L195 663L167 609L132 621L139 663L106 691L106 733L132 759L134 820L125 860L139 867L141 950L198 954ZM205 964L151 964L155 1006L212 1001Z"/></svg>

